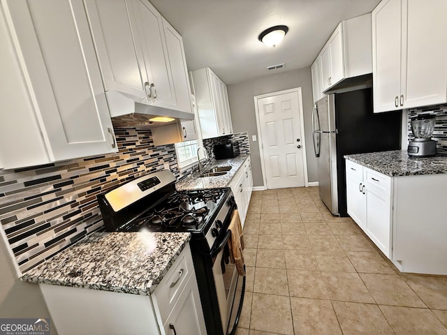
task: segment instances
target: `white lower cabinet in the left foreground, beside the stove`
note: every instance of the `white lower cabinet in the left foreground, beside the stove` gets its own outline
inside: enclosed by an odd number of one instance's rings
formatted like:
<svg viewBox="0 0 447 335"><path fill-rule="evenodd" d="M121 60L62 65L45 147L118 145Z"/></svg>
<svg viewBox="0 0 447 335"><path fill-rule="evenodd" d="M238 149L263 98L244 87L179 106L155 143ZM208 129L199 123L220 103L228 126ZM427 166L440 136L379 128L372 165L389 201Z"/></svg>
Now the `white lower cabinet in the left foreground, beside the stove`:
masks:
<svg viewBox="0 0 447 335"><path fill-rule="evenodd" d="M175 331L179 335L206 335L189 246L150 297L50 284L39 286L60 335L171 335Z"/></svg>

